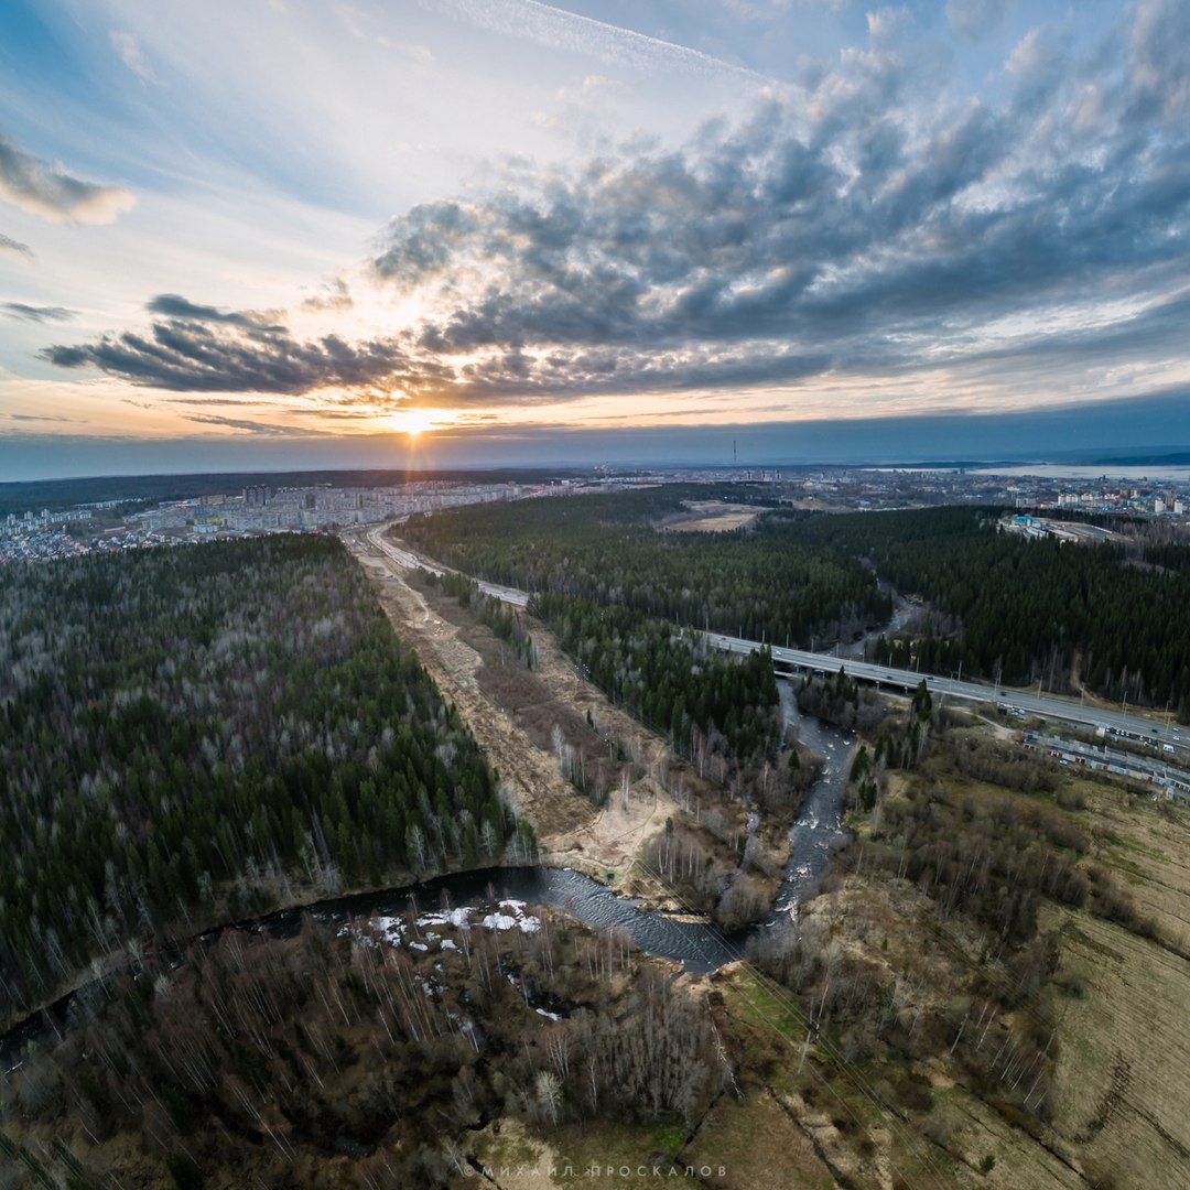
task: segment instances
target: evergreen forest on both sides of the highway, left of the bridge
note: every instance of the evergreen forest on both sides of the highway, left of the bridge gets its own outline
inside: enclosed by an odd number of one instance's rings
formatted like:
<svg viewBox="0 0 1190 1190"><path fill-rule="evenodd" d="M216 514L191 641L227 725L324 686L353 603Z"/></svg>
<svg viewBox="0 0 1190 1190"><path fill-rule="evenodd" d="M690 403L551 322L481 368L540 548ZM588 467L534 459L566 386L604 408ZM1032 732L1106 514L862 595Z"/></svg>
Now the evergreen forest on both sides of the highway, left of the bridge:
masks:
<svg viewBox="0 0 1190 1190"><path fill-rule="evenodd" d="M471 506L412 518L406 537L471 574L534 591L531 610L596 685L726 776L779 738L766 651L738 660L685 627L769 639L888 614L872 576L838 551L757 549L743 533L669 533L683 501L756 502L754 488L674 484L605 496Z"/></svg>

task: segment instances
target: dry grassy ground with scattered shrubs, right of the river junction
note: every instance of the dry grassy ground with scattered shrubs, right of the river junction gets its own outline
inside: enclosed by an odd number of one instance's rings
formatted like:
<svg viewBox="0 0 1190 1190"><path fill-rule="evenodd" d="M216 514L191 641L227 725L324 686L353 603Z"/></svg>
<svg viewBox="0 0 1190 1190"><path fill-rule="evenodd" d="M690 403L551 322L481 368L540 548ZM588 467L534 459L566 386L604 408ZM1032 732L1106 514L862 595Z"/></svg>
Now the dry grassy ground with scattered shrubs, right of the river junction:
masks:
<svg viewBox="0 0 1190 1190"><path fill-rule="evenodd" d="M1019 994L1010 950L990 939L989 953L988 935L962 914L940 915L921 889L860 862L802 907L800 929L828 954L834 978L847 978L848 963L878 971L884 990L868 1015L892 1023L868 1047L857 1023L828 1023L806 1045L814 991L794 996L744 966L720 972L713 984L740 1046L744 1097L715 1104L683 1158L721 1155L733 1185L1185 1185L1190 813L1075 777L1057 791L1066 808L1052 794L942 781L952 803L1009 797L1022 813L1032 804L1069 818L1090 839L1081 866L1132 895L1141 932L1044 901L1036 938L1052 971ZM989 1051L1031 1017L1053 1032L1042 1113L1022 1116L953 1053L960 1012L989 983L1007 989Z"/></svg>

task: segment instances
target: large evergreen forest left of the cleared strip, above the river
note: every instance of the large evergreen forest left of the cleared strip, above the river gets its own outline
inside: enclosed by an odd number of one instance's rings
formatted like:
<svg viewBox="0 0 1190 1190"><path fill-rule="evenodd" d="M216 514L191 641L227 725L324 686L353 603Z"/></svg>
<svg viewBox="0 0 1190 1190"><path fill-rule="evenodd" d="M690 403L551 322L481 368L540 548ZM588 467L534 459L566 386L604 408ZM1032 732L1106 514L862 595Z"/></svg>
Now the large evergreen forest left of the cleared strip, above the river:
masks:
<svg viewBox="0 0 1190 1190"><path fill-rule="evenodd" d="M532 852L339 541L0 583L0 1019L192 919Z"/></svg>

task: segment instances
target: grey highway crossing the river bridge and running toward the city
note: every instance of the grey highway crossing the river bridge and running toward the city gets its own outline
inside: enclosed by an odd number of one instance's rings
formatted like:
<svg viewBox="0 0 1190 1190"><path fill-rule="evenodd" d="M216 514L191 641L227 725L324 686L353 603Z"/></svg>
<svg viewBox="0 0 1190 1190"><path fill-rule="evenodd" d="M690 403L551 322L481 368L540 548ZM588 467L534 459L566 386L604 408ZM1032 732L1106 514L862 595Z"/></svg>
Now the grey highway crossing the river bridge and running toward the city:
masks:
<svg viewBox="0 0 1190 1190"><path fill-rule="evenodd" d="M375 526L367 531L368 541L372 547L389 557L399 566L405 569L427 570L434 575L443 575L446 568L427 562L419 555L401 550L384 538L384 530L390 526ZM495 583L480 582L480 590L493 595L505 603L515 607L525 607L528 603L528 593L516 590L514 587L499 587ZM729 653L750 653L764 647L759 641L744 640L740 637L728 637L718 632L701 633L714 649ZM1140 739L1145 743L1155 744L1160 747L1169 744L1177 749L1179 753L1185 753L1190 747L1190 727L1183 735L1182 728L1176 724L1159 724L1152 719L1145 719L1135 714L1129 715L1127 710L1108 710L1103 707L1095 707L1075 702L1069 699L1057 699L1034 691L1023 691L1009 687L990 687L978 682L960 682L957 678L937 677L933 674L917 674L913 670L892 669L889 665L873 665L871 662L860 662L852 658L840 658L829 653L814 653L803 649L772 649L774 668L778 674L788 674L790 670L810 671L815 674L838 674L845 670L848 677L858 682L870 682L876 687L890 687L897 690L913 690L925 678L926 687L940 701L944 696L960 699L965 702L994 702L1013 712L1025 715L1039 715L1044 719L1059 720L1061 722L1076 724L1081 727L1095 731L1103 728L1104 732L1123 734L1126 738Z"/></svg>

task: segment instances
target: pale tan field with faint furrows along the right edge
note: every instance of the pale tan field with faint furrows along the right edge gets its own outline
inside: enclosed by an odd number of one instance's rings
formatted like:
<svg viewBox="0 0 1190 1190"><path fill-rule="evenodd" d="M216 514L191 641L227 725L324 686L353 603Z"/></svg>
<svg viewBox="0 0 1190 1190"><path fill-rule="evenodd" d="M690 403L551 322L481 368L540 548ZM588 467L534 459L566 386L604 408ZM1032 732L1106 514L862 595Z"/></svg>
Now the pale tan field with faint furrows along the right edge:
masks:
<svg viewBox="0 0 1190 1190"><path fill-rule="evenodd" d="M1101 1186L1183 1186L1190 1170L1190 812L1081 783L1096 858L1157 926L1138 938L1052 907L1064 972L1056 1126Z"/></svg>

